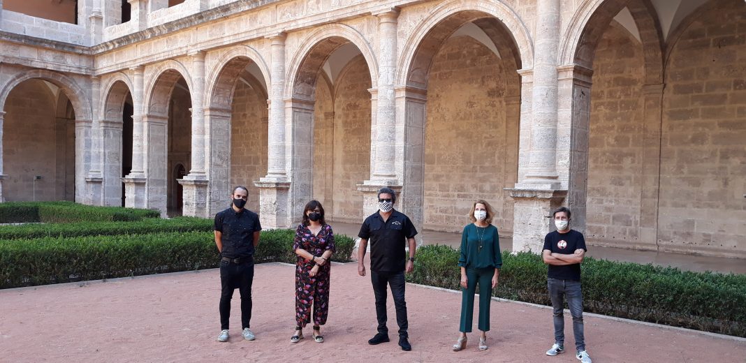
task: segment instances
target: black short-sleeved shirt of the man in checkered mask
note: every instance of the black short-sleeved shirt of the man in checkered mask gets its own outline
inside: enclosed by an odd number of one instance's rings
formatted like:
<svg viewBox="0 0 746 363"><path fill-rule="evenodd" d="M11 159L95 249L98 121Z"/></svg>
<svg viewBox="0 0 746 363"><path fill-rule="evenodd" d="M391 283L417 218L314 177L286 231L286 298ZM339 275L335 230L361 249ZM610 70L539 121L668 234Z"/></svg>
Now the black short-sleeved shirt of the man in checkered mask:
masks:
<svg viewBox="0 0 746 363"><path fill-rule="evenodd" d="M407 215L393 210L383 221L379 212L366 218L357 236L371 245L371 271L402 272L407 263L407 239L417 236L417 230Z"/></svg>

